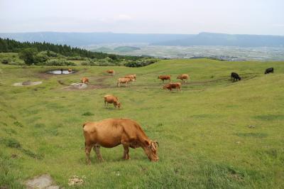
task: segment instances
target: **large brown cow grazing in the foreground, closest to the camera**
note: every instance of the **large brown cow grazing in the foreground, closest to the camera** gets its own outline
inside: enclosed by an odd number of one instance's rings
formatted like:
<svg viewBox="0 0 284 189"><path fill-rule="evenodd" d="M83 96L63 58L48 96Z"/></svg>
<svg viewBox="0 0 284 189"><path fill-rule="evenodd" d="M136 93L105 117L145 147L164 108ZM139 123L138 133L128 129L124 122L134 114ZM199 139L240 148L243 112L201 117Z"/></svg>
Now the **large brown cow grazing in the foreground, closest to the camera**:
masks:
<svg viewBox="0 0 284 189"><path fill-rule="evenodd" d="M124 159L130 159L129 147L143 148L150 161L158 161L157 141L152 141L146 136L141 126L131 119L104 119L97 122L83 124L86 161L91 163L89 153L92 148L97 153L97 158L104 161L100 146L113 148L122 144L124 146Z"/></svg>

